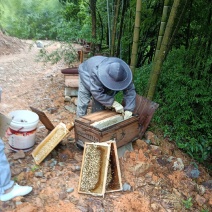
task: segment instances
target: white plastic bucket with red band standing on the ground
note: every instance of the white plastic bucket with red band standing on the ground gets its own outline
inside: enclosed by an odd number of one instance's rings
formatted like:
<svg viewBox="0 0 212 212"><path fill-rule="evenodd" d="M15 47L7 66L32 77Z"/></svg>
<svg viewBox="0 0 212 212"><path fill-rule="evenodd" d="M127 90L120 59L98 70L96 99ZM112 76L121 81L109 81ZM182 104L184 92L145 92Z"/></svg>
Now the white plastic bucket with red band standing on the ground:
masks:
<svg viewBox="0 0 212 212"><path fill-rule="evenodd" d="M7 130L7 136L11 149L25 152L31 150L35 144L38 115L29 110L16 110L10 112L9 117L12 121Z"/></svg>

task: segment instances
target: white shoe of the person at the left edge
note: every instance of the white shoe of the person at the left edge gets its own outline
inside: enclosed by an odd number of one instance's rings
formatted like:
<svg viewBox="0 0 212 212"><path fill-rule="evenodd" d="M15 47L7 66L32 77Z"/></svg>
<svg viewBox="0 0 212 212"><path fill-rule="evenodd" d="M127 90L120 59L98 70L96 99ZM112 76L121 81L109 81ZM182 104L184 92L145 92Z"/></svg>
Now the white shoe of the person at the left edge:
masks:
<svg viewBox="0 0 212 212"><path fill-rule="evenodd" d="M32 191L32 187L30 187L30 186L20 186L18 184L15 184L13 186L13 189L10 192L8 192L6 194L2 194L0 196L0 200L3 202L8 201L8 200L13 199L14 197L27 195L31 191Z"/></svg>

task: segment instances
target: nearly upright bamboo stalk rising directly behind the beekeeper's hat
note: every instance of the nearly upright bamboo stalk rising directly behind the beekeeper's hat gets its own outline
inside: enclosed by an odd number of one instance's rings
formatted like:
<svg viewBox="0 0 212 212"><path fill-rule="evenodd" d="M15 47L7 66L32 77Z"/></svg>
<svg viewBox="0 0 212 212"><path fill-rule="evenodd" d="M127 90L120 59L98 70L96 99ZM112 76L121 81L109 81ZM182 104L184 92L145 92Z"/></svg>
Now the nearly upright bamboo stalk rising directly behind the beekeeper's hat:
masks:
<svg viewBox="0 0 212 212"><path fill-rule="evenodd" d="M134 26L134 33L133 33L132 54L131 54L131 62L130 62L130 68L131 68L132 73L134 73L134 71L135 71L135 66L136 66L136 62L137 62L138 42L139 42L140 24L141 24L141 6L142 6L142 1L137 0L136 14L135 14L135 26Z"/></svg>

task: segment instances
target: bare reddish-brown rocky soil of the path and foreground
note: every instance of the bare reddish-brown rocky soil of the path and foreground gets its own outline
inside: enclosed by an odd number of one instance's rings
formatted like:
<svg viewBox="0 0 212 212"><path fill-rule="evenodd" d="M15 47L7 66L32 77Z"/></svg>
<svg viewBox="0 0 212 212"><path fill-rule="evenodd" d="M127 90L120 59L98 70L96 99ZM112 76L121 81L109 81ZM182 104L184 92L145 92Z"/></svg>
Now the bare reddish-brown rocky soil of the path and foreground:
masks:
<svg viewBox="0 0 212 212"><path fill-rule="evenodd" d="M48 49L58 46L52 43ZM30 110L32 106L45 112L54 126L73 122L75 114L65 109L69 103L64 101L61 73L67 66L63 62L36 62L39 50L33 41L0 33L0 111L8 114L18 109ZM39 123L35 147L47 133ZM129 189L106 193L104 198L78 193L83 152L75 145L74 130L39 166L32 151L14 159L17 153L10 150L8 138L3 140L12 178L21 185L31 185L33 191L25 197L0 202L0 212L212 211L211 176L207 170L198 164L199 176L188 177L193 161L173 143L152 132L133 142L134 151L119 159L122 183Z"/></svg>

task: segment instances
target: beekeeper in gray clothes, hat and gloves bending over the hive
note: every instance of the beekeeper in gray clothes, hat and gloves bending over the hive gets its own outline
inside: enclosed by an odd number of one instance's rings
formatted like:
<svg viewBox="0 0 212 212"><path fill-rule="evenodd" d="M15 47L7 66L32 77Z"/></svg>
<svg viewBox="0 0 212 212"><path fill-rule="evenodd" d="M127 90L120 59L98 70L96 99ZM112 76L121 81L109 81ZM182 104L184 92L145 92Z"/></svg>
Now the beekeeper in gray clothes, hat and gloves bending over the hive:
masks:
<svg viewBox="0 0 212 212"><path fill-rule="evenodd" d="M87 114L92 97L92 112L114 108L124 119L132 116L135 108L135 86L129 66L116 57L94 56L79 66L77 117ZM123 91L124 107L114 97Z"/></svg>

